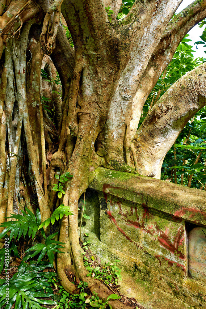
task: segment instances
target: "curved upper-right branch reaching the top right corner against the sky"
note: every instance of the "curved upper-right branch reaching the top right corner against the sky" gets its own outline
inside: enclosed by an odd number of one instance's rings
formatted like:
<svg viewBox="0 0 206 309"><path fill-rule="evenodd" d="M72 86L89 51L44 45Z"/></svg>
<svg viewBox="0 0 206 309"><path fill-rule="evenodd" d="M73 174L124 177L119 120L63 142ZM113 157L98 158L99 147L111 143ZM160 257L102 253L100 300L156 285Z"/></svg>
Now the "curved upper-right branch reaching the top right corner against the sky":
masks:
<svg viewBox="0 0 206 309"><path fill-rule="evenodd" d="M137 93L133 99L131 136L134 136L137 131L141 111L149 93L152 91L166 66L172 61L174 53L184 36L191 28L206 17L205 8L206 1L197 0L181 11L166 27L142 75L137 87Z"/></svg>

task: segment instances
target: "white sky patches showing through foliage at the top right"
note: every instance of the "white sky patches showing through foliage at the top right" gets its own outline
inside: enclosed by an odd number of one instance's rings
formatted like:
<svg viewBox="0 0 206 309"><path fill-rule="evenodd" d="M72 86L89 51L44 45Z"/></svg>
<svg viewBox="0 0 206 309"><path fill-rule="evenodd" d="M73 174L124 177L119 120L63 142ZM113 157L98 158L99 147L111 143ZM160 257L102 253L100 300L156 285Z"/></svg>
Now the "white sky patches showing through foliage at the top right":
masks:
<svg viewBox="0 0 206 309"><path fill-rule="evenodd" d="M194 2L194 0L183 0L179 8L177 9L176 13L179 13L180 11L182 11L186 6L188 6L192 2ZM188 32L188 34L190 35L188 39L192 40L192 42L188 42L187 44L192 45L193 46L192 50L196 51L196 53L193 53L194 58L197 58L197 57L206 58L206 53L204 53L204 50L206 50L206 47L203 47L204 46L203 44L194 45L196 41L201 41L200 36L202 35L204 27L205 26L203 26L202 28L199 28L198 25L196 25ZM198 49L196 49L196 46L198 47Z"/></svg>

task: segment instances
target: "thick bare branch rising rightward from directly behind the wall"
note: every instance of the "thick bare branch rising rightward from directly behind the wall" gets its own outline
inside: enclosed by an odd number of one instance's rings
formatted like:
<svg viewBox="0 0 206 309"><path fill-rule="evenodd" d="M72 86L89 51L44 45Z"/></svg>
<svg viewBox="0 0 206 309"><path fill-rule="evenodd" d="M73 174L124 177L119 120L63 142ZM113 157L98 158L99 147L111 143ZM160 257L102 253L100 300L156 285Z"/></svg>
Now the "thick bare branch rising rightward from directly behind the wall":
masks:
<svg viewBox="0 0 206 309"><path fill-rule="evenodd" d="M138 172L160 178L162 162L181 130L206 105L206 64L185 74L159 99L138 129Z"/></svg>

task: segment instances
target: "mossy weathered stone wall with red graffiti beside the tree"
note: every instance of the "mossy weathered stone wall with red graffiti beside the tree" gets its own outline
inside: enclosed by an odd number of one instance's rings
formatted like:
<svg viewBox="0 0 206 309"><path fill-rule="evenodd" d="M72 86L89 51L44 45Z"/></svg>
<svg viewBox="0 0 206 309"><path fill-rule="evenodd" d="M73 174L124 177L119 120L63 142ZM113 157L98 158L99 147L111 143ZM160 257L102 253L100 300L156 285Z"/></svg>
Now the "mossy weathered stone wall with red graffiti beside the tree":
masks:
<svg viewBox="0 0 206 309"><path fill-rule="evenodd" d="M96 172L84 229L102 262L121 261L124 294L146 308L206 308L206 193L104 168Z"/></svg>

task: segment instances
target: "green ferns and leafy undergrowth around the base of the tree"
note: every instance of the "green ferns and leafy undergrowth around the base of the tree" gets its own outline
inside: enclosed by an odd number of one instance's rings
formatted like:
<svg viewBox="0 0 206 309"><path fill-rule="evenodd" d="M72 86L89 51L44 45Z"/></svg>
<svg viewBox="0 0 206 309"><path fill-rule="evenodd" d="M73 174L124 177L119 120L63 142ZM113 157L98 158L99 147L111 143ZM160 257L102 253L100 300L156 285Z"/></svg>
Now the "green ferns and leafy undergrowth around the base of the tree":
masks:
<svg viewBox="0 0 206 309"><path fill-rule="evenodd" d="M65 194L63 185L73 177L66 173L56 176L58 184L53 190L58 192L61 199ZM88 248L87 242L80 245L84 249L84 265L88 270L87 276L95 277L107 286L112 294L105 300L99 299L97 294L91 294L86 282L77 282L72 273L68 273L69 280L78 288L78 294L71 295L61 286L54 272L53 262L56 253L64 243L56 240L58 232L47 237L47 229L52 229L55 222L61 220L63 215L72 215L67 205L60 205L46 221L41 223L40 211L36 215L25 207L22 214L11 214L7 221L0 224L4 230L0 239L4 238L4 248L0 250L0 307L2 309L40 309L41 305L54 305L53 308L111 308L110 299L124 299L118 289L118 280L121 280L121 270L114 263L101 265L98 257L94 256ZM82 216L89 218L84 214ZM81 220L82 222L82 220ZM85 234L89 236L88 234ZM134 306L132 306L135 308Z"/></svg>

